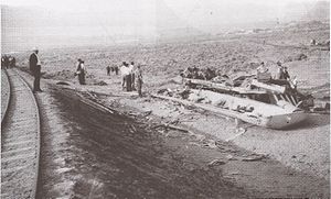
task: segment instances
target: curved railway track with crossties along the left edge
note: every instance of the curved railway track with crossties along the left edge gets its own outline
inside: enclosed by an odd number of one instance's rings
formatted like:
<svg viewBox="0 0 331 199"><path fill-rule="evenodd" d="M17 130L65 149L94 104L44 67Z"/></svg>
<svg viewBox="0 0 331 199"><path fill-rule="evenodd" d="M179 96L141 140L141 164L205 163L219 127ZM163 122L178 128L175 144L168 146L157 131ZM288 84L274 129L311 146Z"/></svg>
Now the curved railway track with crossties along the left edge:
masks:
<svg viewBox="0 0 331 199"><path fill-rule="evenodd" d="M35 198L40 161L36 99L15 69L8 69L10 101L1 121L1 198Z"/></svg>

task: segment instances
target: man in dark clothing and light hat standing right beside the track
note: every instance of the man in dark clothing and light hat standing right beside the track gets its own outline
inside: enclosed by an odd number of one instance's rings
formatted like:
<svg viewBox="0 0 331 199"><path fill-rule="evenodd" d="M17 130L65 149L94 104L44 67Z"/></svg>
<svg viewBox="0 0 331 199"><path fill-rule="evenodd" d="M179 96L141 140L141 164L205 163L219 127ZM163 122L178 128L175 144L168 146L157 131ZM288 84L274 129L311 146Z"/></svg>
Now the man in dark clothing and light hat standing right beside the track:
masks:
<svg viewBox="0 0 331 199"><path fill-rule="evenodd" d="M40 89L40 78L41 78L41 62L38 57L38 49L34 49L34 52L30 55L29 65L30 70L32 75L34 76L34 82L33 82L33 91L34 92L42 92Z"/></svg>

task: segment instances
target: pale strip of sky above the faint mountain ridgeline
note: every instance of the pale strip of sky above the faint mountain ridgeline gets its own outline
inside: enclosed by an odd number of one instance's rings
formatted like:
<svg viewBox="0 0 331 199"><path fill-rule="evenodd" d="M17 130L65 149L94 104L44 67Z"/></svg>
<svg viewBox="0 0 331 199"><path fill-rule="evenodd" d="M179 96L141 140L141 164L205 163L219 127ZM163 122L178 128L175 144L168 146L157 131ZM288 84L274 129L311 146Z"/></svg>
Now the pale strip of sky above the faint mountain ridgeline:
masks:
<svg viewBox="0 0 331 199"><path fill-rule="evenodd" d="M275 11L274 14L278 16L289 3L316 2L318 0L2 0L2 4L34 5L53 12L103 12L106 13L106 16L120 15L121 12L127 11L140 11L152 16L154 14L153 8L161 1L185 20L192 19L192 15L193 19L197 19L209 11L228 19L249 13L248 19L245 18L249 20L259 16L266 8ZM195 15L196 18L194 18Z"/></svg>

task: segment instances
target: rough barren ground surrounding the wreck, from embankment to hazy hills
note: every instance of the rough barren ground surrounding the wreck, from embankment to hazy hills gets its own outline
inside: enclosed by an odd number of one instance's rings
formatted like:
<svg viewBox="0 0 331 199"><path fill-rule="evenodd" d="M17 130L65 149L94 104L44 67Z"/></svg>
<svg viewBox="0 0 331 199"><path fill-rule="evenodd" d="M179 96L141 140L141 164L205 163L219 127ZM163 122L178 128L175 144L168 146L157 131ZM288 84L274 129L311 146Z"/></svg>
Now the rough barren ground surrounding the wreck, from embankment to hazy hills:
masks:
<svg viewBox="0 0 331 199"><path fill-rule="evenodd" d="M195 196L201 194L202 198L204 198L203 196L220 198L223 195L234 198L247 196L320 196L324 198L329 194L330 178L329 115L310 115L309 121L305 124L286 131L266 130L243 124L245 133L238 134L231 119L150 97L150 93L154 93L161 88L175 89L181 87L181 79L178 76L179 69L188 66L214 67L224 73L233 74L253 71L257 67L256 64L263 60L271 71L275 71L275 63L281 60L289 67L290 75L298 76L300 89L312 92L318 101L328 102L330 100L330 52L309 46L309 41L312 37L318 41L329 40L329 24L318 25L320 26L311 27L308 24L308 29L305 31L298 31L296 26L292 26L260 35L215 37L210 41L194 41L185 44L167 43L152 46L41 51L45 81L53 85L58 81L68 84L68 86L58 87L61 89L56 88L55 91L51 88L47 89L46 93L41 93L41 99L49 101L44 103L45 109L50 111L47 118L54 120L54 124L52 124L54 126L46 129L49 132L54 132L49 135L49 142L52 143L49 145L49 153L58 157L58 159L55 158L57 161L54 161L55 166L50 165L51 168L54 166L54 168L60 169L58 180L50 184L52 189L57 185L53 194L55 196L56 194L65 194L62 190L72 187L67 195L74 194L74 196L83 197L86 195L85 191L82 191L84 186L94 187L93 190L97 189L99 192L108 190L103 188L106 186L107 188L111 187L111 191L108 192L109 196L111 194L132 196L130 191L120 194L122 187L130 185L129 188L125 189L135 190L137 196L153 198L153 196L161 196L164 192L161 188L167 185L167 189L174 190L174 196L188 195L189 197L193 195L188 192L201 186L204 187L205 184L207 186L204 188L210 188L207 190L197 189L194 192ZM307 58L301 59L300 54L305 54ZM29 55L26 53L21 56L19 63L24 70ZM83 87L77 85L77 79L74 77L75 60L78 57L85 59L88 68L87 86ZM122 60L135 60L145 65L145 98L138 98L137 93L122 92L120 77L106 75L107 65L119 65ZM73 90L73 95L65 95ZM44 97L49 95L49 91L51 97ZM116 129L116 125L108 123L111 120L117 121L114 119L117 117L95 112L95 110L79 106L79 103L72 106L72 101L77 101L74 93L81 93L85 99L90 98L130 117L130 119L126 118L125 120L135 121L134 123L136 120L139 122L142 120L143 124L137 124L137 126L129 124L129 128L125 124L120 130L125 132L120 132L120 134L117 131L113 132L109 129ZM54 110L56 111L53 112ZM146 114L149 115L145 117ZM107 122L105 122L106 118L108 119ZM190 133L169 132L162 128L149 129L153 123L157 123L154 125L174 123L177 126L188 129ZM132 130L131 126L136 130ZM141 129L143 131L140 131ZM108 131L113 133L107 133ZM134 133L136 131L141 132L139 136L137 135L138 137ZM56 137L55 132L64 133L60 133L61 135ZM99 136L93 136L94 134L99 134ZM109 139L104 140L103 137ZM116 141L116 143L118 141L120 145L115 147L110 145L108 140ZM139 148L130 151L136 144ZM127 148L126 145L130 145L132 148ZM140 147L141 145L145 147ZM58 146L60 150L54 151L55 146ZM65 150L67 147L73 152ZM107 152L108 147L109 152ZM126 150L118 152L118 147ZM118 161L127 165L126 169L117 170L117 161L108 159L105 157L107 155L103 155L109 154L109 156L115 156L118 159L117 153L126 156L126 159ZM162 153L166 153L166 161ZM79 154L78 157L76 157L77 154ZM138 154L142 155L139 156ZM136 155L141 157L138 162L132 159ZM67 163L66 157L76 161ZM243 161L245 158L252 159L250 157L258 161ZM218 159L215 162L218 166L213 166L211 169L206 165L214 159ZM49 162L52 163L53 161ZM189 166L179 166L185 165L183 163L186 162ZM67 164L68 168L66 168ZM158 170L159 164L167 166L163 170ZM107 170L104 165L111 165L110 168L114 169L113 173L115 174L108 174L111 169ZM193 165L193 170L200 170L199 174L191 174L190 165ZM66 169L62 169L62 167ZM177 170L175 167L179 169ZM103 168L106 170L100 176L106 176L105 179L99 179L102 178L99 176L95 177L96 170L103 170ZM149 168L156 176L151 175ZM137 172L138 176L132 177L132 173L128 175L124 170L128 173L131 170L139 172ZM179 178L174 177L177 175L172 175L177 172L182 177L180 179L185 183L178 180ZM45 179L53 175L53 173L45 175ZM151 175L152 177L148 179L157 183L152 184L143 177L146 180L137 179L138 183L134 184L136 178L141 177L139 175ZM118 179L117 183L107 183L109 180L107 176ZM119 176L122 176L127 181L121 180ZM199 176L202 177L199 178ZM223 183L220 183L220 179ZM66 183L62 184L63 180ZM179 184L173 186L173 181ZM188 181L192 181L193 185L188 184ZM151 186L151 189L149 190L143 185ZM174 188L178 186L182 187L183 192L179 188ZM45 188L45 190L52 189ZM167 194L169 195L168 191ZM52 196L52 191L46 192L46 196ZM103 194L96 196L103 196Z"/></svg>

